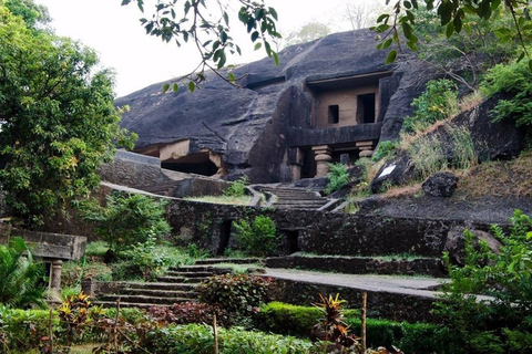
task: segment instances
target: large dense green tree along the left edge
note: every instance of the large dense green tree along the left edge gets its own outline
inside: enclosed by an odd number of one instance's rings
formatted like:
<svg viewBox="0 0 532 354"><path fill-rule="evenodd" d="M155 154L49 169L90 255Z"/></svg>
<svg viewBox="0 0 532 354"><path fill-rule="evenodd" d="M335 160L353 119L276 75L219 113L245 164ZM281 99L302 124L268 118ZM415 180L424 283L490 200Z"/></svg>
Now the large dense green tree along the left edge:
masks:
<svg viewBox="0 0 532 354"><path fill-rule="evenodd" d="M13 212L39 227L98 187L98 166L132 136L119 127L112 75L94 70L94 51L1 4L0 38L0 183Z"/></svg>

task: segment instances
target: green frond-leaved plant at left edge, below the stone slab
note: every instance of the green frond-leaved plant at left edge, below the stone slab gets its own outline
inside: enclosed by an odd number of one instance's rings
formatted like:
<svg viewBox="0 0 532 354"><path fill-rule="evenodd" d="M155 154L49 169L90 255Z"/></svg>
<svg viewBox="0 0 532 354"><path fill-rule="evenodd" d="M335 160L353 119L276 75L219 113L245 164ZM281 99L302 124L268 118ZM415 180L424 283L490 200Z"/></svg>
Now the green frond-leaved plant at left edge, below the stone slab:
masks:
<svg viewBox="0 0 532 354"><path fill-rule="evenodd" d="M47 308L43 278L43 264L33 259L22 238L0 244L0 303L13 308Z"/></svg>

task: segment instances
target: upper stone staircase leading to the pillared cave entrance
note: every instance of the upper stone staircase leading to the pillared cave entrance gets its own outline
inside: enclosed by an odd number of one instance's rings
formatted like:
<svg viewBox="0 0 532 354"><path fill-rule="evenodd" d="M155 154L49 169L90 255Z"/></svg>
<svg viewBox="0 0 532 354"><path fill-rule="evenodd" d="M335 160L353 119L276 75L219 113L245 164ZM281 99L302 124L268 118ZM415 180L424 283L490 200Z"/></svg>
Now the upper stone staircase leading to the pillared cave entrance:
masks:
<svg viewBox="0 0 532 354"><path fill-rule="evenodd" d="M328 210L336 204L336 200L324 198L313 190L272 186L255 186L254 188L275 196L269 206L278 209Z"/></svg>

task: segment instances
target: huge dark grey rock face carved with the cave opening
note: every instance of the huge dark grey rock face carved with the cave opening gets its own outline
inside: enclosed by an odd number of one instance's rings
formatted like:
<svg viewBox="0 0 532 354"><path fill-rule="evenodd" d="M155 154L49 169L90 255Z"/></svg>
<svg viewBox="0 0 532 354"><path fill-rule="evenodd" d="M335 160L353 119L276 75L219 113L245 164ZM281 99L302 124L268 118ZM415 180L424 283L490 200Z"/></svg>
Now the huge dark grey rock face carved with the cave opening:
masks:
<svg viewBox="0 0 532 354"><path fill-rule="evenodd" d="M233 74L243 77L242 88L212 73L194 93L163 93L163 84L154 84L116 101L131 107L122 126L139 134L136 150L152 156L188 140L187 154L221 156L219 175L227 179L246 174L254 183L290 181L293 166L300 163L287 158L290 149L356 140L376 144L381 129L385 139L398 136L412 98L430 77L420 74L421 64L413 59L386 65L386 51L375 46L369 30L336 33L287 48L279 53L279 66L264 59L235 69ZM374 75L371 83L367 74ZM339 86L330 86L335 80ZM351 86L341 86L346 82ZM369 84L378 86L375 123L317 128L316 97L324 90L356 91ZM307 160L313 163L311 157Z"/></svg>

